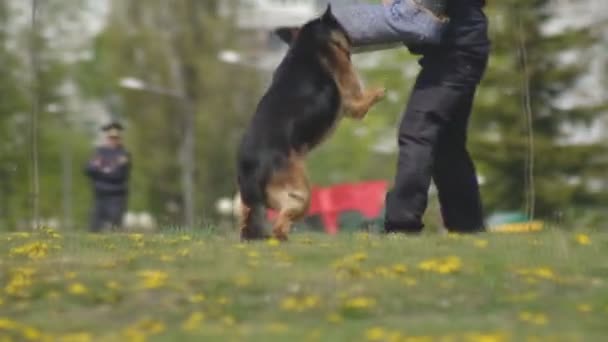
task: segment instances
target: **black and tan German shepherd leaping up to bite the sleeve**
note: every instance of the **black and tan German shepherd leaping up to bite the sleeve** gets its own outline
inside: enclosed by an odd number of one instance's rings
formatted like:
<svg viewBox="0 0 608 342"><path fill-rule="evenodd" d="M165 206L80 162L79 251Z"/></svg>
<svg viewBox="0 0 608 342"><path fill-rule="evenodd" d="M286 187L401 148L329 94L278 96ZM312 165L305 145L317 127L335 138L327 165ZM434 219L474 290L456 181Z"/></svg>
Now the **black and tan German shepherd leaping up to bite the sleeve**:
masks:
<svg viewBox="0 0 608 342"><path fill-rule="evenodd" d="M267 238L266 209L277 211L272 235L286 240L310 205L305 158L343 117L362 119L384 89L362 90L351 41L328 6L298 32L275 71L238 150L242 240Z"/></svg>

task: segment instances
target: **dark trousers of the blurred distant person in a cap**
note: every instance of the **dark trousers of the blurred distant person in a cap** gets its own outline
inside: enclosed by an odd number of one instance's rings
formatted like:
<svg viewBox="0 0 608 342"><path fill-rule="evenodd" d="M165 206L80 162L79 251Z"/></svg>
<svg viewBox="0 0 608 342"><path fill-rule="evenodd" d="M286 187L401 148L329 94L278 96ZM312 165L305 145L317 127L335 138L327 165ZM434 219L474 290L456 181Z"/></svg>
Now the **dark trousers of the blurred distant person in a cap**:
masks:
<svg viewBox="0 0 608 342"><path fill-rule="evenodd" d="M95 195L95 207L91 215L91 232L100 232L106 226L120 228L127 208L126 195Z"/></svg>

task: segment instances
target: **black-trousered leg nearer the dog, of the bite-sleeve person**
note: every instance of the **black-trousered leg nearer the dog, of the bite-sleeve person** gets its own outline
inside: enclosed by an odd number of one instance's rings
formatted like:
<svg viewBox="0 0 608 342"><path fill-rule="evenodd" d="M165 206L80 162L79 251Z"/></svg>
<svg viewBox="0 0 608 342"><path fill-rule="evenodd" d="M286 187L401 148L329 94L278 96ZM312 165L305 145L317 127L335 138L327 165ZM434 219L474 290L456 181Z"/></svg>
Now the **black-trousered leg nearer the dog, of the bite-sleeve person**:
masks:
<svg viewBox="0 0 608 342"><path fill-rule="evenodd" d="M427 207L434 149L449 120L458 93L439 83L425 82L434 67L423 69L399 129L399 157L393 189L387 194L385 230L420 232Z"/></svg>

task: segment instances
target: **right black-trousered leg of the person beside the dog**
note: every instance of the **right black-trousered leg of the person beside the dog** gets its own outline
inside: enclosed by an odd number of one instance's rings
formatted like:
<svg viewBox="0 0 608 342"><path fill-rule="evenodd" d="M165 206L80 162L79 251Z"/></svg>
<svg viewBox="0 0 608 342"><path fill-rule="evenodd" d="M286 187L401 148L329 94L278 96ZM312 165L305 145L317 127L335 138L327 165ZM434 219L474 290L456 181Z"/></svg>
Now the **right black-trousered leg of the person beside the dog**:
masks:
<svg viewBox="0 0 608 342"><path fill-rule="evenodd" d="M462 89L451 120L439 136L435 150L433 180L437 186L441 214L450 232L484 230L479 184L473 160L466 147L467 126L475 90Z"/></svg>

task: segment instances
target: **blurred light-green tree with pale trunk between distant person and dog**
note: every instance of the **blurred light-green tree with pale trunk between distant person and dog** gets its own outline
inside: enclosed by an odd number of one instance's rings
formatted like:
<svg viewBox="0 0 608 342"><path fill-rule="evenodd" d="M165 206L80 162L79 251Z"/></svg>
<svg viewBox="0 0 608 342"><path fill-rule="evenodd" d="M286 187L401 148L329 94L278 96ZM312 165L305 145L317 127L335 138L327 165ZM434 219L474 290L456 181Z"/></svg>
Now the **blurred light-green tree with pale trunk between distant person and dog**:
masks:
<svg viewBox="0 0 608 342"><path fill-rule="evenodd" d="M188 211L206 220L217 198L236 191L234 151L258 92L257 72L218 60L220 49L236 43L218 1L111 4L95 58L82 66L103 82L92 76L81 84L92 96L121 95L134 155L131 203L164 222L190 225ZM119 89L125 77L146 85Z"/></svg>

